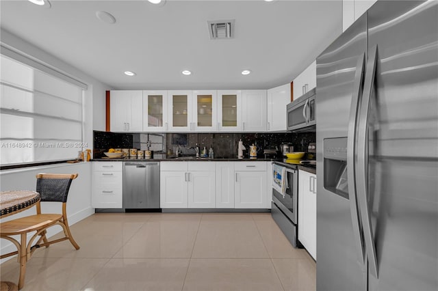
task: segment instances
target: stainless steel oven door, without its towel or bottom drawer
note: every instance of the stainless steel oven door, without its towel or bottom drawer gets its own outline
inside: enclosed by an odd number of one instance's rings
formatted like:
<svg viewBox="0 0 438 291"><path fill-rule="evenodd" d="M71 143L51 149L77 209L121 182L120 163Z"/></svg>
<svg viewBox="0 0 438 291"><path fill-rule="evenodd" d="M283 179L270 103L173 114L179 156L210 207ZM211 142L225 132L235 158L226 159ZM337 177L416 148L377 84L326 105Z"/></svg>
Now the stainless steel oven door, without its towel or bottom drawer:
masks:
<svg viewBox="0 0 438 291"><path fill-rule="evenodd" d="M298 221L298 171L285 168L284 195L272 187L272 201L294 223Z"/></svg>

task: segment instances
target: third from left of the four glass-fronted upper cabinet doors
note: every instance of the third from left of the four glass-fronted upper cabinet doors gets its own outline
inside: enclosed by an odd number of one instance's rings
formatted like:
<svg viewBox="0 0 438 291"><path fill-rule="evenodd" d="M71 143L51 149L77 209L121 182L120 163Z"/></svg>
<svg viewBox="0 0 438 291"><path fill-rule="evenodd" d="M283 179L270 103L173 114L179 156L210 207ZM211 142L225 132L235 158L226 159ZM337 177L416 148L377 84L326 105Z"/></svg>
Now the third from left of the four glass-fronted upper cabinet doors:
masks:
<svg viewBox="0 0 438 291"><path fill-rule="evenodd" d="M203 132L218 130L218 97L216 91L194 91L192 96L194 130Z"/></svg>

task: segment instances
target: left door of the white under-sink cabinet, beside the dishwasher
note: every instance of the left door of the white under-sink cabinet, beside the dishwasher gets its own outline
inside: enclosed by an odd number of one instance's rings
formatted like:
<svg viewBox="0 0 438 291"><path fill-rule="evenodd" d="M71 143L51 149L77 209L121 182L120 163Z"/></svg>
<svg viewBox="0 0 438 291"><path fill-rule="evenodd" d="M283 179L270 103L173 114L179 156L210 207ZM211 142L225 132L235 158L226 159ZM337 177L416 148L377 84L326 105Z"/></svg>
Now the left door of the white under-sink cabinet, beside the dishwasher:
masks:
<svg viewBox="0 0 438 291"><path fill-rule="evenodd" d="M159 177L160 207L187 208L188 184L185 171L161 171Z"/></svg>

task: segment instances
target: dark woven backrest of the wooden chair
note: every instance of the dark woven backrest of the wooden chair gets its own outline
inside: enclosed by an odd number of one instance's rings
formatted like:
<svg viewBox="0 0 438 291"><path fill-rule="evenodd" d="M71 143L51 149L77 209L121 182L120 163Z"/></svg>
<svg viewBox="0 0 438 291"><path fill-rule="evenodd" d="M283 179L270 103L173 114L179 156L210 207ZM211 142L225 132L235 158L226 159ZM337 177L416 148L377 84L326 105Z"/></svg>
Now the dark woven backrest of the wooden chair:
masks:
<svg viewBox="0 0 438 291"><path fill-rule="evenodd" d="M78 174L38 174L36 192L40 193L42 202L67 202L71 181L77 176Z"/></svg>

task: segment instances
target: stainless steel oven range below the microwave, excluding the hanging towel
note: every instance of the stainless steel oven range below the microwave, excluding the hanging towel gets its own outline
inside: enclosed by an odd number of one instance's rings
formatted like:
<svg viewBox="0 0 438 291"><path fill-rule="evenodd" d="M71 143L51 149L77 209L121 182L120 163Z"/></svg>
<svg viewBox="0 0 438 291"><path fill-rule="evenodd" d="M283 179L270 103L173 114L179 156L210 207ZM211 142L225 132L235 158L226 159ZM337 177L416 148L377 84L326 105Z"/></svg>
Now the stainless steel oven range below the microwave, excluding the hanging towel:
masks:
<svg viewBox="0 0 438 291"><path fill-rule="evenodd" d="M280 164L276 164L280 165ZM298 170L285 165L287 187L284 195L272 187L272 219L279 225L287 240L299 247L298 242Z"/></svg>

